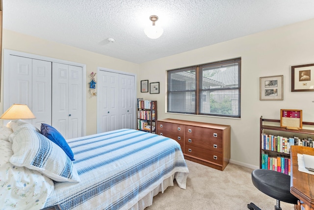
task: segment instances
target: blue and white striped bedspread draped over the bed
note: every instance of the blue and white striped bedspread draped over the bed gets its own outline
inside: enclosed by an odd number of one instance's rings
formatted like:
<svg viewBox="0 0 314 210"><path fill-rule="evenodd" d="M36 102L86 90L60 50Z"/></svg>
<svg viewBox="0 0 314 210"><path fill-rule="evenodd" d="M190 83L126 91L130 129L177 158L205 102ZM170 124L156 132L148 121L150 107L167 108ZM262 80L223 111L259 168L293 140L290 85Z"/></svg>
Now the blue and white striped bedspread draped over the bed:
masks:
<svg viewBox="0 0 314 210"><path fill-rule="evenodd" d="M80 182L55 182L46 207L128 210L176 175L185 189L188 168L180 145L152 133L120 129L67 140Z"/></svg>

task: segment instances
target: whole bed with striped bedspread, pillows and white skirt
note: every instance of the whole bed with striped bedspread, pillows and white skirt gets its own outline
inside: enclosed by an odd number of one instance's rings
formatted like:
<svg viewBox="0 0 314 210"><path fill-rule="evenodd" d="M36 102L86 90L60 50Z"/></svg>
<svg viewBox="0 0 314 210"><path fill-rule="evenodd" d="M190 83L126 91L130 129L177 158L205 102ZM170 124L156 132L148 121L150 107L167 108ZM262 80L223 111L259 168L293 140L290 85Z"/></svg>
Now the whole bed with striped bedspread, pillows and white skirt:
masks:
<svg viewBox="0 0 314 210"><path fill-rule="evenodd" d="M1 129L0 152L5 158L0 162L0 203L4 209L36 210L59 204L64 210L143 210L152 205L155 195L174 185L174 179L179 187L186 187L188 168L182 150L167 137L120 129L67 140L69 148L64 150L23 120ZM32 148L26 150L29 145ZM52 159L39 158L47 145L57 152L51 152ZM4 151L10 146L11 151ZM73 156L68 154L71 151ZM15 176L14 170L19 176L27 174L26 178Z"/></svg>

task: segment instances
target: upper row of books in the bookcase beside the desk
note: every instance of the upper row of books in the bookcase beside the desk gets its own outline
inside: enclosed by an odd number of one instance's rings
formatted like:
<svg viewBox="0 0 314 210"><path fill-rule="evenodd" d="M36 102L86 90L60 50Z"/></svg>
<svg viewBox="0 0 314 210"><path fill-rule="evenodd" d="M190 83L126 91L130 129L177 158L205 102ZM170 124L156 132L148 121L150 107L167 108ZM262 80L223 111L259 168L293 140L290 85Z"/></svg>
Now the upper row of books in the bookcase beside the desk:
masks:
<svg viewBox="0 0 314 210"><path fill-rule="evenodd" d="M313 139L308 137L307 139L300 139L296 136L294 137L282 137L274 136L271 134L262 133L262 149L272 150L283 153L290 153L290 147L292 145L305 146L313 148Z"/></svg>

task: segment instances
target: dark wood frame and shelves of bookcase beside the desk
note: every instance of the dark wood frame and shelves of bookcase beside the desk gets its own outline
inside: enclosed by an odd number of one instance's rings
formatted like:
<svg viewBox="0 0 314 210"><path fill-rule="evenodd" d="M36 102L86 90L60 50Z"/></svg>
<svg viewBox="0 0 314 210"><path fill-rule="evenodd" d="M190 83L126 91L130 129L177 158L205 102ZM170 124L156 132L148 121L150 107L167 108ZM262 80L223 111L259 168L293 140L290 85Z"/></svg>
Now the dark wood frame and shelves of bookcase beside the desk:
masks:
<svg viewBox="0 0 314 210"><path fill-rule="evenodd" d="M266 122L266 123L265 123ZM270 123L271 125L267 124ZM282 136L285 135L285 137L289 137L289 136L308 136L311 137L312 139L314 138L314 122L302 122L303 125L305 126L309 126L312 128L313 126L313 130L312 129L287 129L285 127L280 127L280 120L270 120L270 119L263 119L262 116L260 118L260 168L262 168L262 153L267 153L268 155L272 156L272 157L278 157L278 156L282 156L285 158L290 158L290 152L289 153L284 153L284 152L278 152L275 150L266 150L263 149L262 147L262 134L266 133L266 134L273 134L273 135L277 135L277 134L281 134ZM314 143L313 143L314 145Z"/></svg>

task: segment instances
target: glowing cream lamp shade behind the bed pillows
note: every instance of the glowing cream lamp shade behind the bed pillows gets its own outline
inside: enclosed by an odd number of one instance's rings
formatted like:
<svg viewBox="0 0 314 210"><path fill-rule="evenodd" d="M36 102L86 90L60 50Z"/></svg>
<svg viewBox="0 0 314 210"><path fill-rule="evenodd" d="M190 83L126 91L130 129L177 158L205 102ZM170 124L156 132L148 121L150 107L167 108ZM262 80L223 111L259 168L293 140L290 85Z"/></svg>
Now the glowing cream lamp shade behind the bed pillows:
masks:
<svg viewBox="0 0 314 210"><path fill-rule="evenodd" d="M15 119L35 119L36 117L30 111L26 104L13 104L6 110L0 117L2 120L15 120Z"/></svg>

